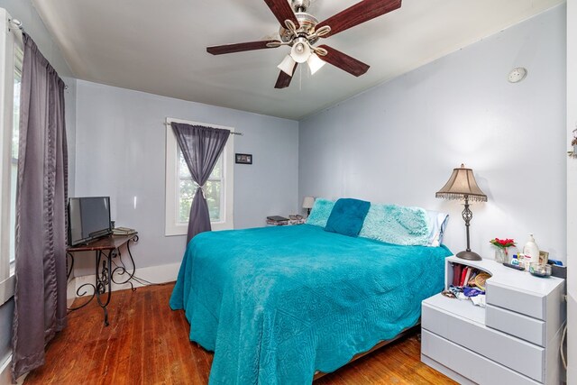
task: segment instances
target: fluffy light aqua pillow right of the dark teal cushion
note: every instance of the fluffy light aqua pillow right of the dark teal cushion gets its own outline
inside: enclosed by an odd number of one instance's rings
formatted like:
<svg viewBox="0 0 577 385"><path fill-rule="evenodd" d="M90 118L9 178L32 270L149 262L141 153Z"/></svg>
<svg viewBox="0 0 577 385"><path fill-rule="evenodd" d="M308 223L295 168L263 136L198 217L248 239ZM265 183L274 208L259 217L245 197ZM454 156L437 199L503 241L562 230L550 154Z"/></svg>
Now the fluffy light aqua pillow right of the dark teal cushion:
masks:
<svg viewBox="0 0 577 385"><path fill-rule="evenodd" d="M426 246L430 233L425 209L373 204L359 236L405 246Z"/></svg>

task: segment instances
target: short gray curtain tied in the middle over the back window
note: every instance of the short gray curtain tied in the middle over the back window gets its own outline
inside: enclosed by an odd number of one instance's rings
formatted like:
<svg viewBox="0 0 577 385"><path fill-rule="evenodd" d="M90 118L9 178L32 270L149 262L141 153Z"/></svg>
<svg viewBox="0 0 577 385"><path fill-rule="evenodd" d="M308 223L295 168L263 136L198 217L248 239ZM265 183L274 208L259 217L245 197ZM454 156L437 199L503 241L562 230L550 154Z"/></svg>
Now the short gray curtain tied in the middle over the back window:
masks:
<svg viewBox="0 0 577 385"><path fill-rule="evenodd" d="M187 162L192 179L199 186L190 206L187 244L198 233L210 231L208 205L202 191L203 186L215 168L218 157L230 136L230 130L173 123L172 131L179 142L180 151Z"/></svg>

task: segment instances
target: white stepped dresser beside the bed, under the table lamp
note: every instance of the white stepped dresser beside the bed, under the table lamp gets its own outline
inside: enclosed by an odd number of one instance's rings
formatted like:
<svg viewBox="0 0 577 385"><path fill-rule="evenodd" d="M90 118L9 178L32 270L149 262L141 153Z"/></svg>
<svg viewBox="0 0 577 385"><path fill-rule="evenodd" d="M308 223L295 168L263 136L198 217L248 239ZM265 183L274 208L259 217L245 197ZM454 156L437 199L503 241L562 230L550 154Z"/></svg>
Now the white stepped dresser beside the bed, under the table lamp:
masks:
<svg viewBox="0 0 577 385"><path fill-rule="evenodd" d="M487 307L441 294L422 304L421 361L463 384L559 384L565 280L533 277L492 261L445 261L487 271Z"/></svg>

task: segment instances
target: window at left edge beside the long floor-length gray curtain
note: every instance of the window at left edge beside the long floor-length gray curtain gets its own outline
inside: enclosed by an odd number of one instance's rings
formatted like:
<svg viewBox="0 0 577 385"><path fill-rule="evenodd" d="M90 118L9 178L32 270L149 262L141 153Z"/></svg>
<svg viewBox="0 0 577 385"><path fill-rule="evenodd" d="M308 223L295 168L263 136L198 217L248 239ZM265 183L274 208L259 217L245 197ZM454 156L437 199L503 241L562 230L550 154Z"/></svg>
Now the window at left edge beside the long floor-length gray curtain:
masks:
<svg viewBox="0 0 577 385"><path fill-rule="evenodd" d="M9 22L0 8L0 304L14 295L14 239L18 138L20 125L20 83L22 79L22 33Z"/></svg>

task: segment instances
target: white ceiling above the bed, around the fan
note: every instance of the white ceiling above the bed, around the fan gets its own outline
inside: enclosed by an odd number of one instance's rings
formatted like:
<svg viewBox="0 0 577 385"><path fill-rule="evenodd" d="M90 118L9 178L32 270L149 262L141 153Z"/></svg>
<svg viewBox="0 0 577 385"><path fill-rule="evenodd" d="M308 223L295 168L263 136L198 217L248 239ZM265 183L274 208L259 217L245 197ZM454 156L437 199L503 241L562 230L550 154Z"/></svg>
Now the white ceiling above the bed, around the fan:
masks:
<svg viewBox="0 0 577 385"><path fill-rule="evenodd" d="M32 0L77 78L299 119L499 32L563 0L405 0L323 43L371 65L360 78L298 66L275 89L289 48L213 56L206 46L270 38L262 0ZM313 0L319 21L358 0ZM25 26L24 26L25 27Z"/></svg>

